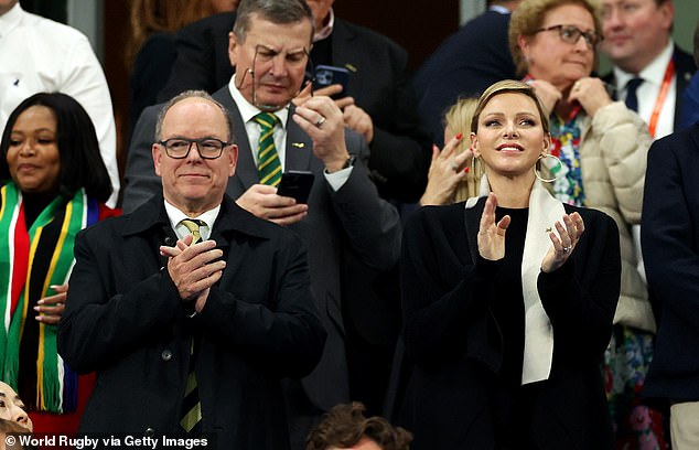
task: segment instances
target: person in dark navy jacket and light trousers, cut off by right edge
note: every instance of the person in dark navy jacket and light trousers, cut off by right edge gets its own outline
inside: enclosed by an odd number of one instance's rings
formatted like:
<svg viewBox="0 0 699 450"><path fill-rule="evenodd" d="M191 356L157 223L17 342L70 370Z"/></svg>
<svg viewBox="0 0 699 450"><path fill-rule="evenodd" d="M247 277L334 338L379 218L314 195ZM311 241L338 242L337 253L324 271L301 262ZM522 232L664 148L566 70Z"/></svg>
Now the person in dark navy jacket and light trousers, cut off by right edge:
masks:
<svg viewBox="0 0 699 450"><path fill-rule="evenodd" d="M650 147L641 231L648 289L662 311L643 394L669 403L673 449L697 449L699 124Z"/></svg>

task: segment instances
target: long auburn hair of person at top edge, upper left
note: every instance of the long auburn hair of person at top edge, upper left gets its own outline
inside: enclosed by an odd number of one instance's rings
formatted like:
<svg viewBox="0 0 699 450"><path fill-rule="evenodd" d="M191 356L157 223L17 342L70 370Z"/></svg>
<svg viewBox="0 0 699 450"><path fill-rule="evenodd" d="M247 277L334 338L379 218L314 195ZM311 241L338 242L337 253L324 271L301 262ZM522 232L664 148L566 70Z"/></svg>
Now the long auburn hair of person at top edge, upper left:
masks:
<svg viewBox="0 0 699 450"><path fill-rule="evenodd" d="M127 66L152 33L172 33L214 13L209 0L131 0L130 24L126 47Z"/></svg>

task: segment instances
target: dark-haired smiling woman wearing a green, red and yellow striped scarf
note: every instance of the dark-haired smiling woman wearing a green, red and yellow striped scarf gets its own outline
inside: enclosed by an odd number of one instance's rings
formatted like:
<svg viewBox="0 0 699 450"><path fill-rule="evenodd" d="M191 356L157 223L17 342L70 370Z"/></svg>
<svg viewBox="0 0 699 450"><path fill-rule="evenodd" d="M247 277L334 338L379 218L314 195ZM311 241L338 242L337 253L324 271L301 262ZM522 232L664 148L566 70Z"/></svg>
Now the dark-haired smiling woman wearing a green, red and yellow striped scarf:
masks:
<svg viewBox="0 0 699 450"><path fill-rule="evenodd" d="M35 94L0 141L0 379L28 401L36 432L71 432L78 378L56 352L75 235L115 211L95 127L65 94ZM73 414L71 414L73 413Z"/></svg>

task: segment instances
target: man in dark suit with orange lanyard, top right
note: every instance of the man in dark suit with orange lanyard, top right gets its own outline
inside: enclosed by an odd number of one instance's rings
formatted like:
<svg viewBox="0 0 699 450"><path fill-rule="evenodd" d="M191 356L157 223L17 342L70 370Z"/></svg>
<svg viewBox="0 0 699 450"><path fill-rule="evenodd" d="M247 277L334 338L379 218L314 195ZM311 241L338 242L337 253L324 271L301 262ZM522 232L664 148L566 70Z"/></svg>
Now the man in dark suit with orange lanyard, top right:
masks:
<svg viewBox="0 0 699 450"><path fill-rule="evenodd" d="M673 0L603 1L601 50L614 65L604 81L655 139L676 129L682 92L697 69L673 42L674 14Z"/></svg>

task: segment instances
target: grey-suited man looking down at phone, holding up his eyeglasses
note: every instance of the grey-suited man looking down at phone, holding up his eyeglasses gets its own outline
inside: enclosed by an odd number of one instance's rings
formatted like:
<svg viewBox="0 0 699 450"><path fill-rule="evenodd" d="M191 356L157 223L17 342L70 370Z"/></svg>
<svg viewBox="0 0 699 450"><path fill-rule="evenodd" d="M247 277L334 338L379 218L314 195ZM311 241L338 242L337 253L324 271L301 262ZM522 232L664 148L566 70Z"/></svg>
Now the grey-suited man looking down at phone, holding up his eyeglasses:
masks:
<svg viewBox="0 0 699 450"><path fill-rule="evenodd" d="M243 0L229 44L237 71L213 95L228 108L237 131L239 159L227 193L258 217L297 231L309 246L312 290L329 338L315 371L302 385L288 386L297 448L323 411L351 399L347 328L376 321L375 309L347 306L363 299L343 291L344 261L352 256L381 271L396 265L400 251L398 213L378 196L369 178L364 139L345 130L343 114L329 97L291 104L303 83L312 29L303 0ZM147 108L135 130L126 171L127 210L153 192L152 163L144 149L152 140L155 109ZM272 136L281 170L314 173L308 204L277 195L273 185L261 183L259 113L277 116Z"/></svg>

